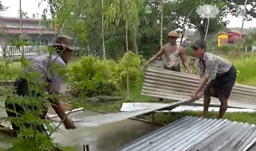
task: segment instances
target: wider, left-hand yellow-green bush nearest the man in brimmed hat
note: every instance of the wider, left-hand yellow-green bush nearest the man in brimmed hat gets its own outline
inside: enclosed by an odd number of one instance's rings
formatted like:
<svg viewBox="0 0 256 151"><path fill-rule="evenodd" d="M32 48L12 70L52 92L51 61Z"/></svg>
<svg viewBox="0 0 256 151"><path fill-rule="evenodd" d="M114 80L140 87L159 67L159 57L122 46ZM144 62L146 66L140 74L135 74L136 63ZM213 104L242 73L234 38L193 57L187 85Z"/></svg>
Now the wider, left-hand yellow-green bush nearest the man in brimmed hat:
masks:
<svg viewBox="0 0 256 151"><path fill-rule="evenodd" d="M115 61L89 56L81 57L70 65L71 89L82 96L111 94L118 90Z"/></svg>

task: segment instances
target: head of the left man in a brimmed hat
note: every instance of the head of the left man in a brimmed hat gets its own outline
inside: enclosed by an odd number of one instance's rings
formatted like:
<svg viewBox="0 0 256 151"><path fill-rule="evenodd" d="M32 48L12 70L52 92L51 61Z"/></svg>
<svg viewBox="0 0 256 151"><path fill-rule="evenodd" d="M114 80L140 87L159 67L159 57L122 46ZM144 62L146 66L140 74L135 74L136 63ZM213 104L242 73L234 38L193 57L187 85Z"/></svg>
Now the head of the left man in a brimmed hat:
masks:
<svg viewBox="0 0 256 151"><path fill-rule="evenodd" d="M57 53L65 63L68 63L72 58L72 52L75 49L75 47L72 46L72 41L73 38L67 35L57 36L56 42L53 46L56 48Z"/></svg>

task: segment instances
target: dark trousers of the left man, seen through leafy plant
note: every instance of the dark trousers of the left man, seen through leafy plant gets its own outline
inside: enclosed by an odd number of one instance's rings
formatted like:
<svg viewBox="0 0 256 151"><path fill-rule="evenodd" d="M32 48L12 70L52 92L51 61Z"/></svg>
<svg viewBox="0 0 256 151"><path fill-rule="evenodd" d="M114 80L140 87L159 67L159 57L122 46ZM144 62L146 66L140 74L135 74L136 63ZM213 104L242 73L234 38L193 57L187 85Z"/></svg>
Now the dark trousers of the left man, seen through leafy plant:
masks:
<svg viewBox="0 0 256 151"><path fill-rule="evenodd" d="M14 93L17 94L18 96L29 96L29 87L28 87L28 81L26 81L25 79L18 79L14 82ZM40 97L40 94L37 94L36 97ZM33 107L33 106L27 106L27 107L21 107L21 105L19 104L13 104L13 103L8 103L8 99L9 97L7 97L6 100L6 112L7 115L10 118L15 118L15 117L21 117L24 115L25 109L28 110L32 110L33 108L36 110L37 107ZM18 114L17 114L18 113ZM44 106L44 110L42 111L42 113L40 113L39 118L41 119L45 119L45 115L47 114L47 107L46 105ZM24 123L24 126L29 128L32 127L33 125L31 125L30 123ZM17 137L18 133L20 132L20 127L16 124L14 124L12 122L12 127L14 130L14 136ZM37 125L37 131L39 132L43 132L46 133L45 127L43 126L43 124Z"/></svg>

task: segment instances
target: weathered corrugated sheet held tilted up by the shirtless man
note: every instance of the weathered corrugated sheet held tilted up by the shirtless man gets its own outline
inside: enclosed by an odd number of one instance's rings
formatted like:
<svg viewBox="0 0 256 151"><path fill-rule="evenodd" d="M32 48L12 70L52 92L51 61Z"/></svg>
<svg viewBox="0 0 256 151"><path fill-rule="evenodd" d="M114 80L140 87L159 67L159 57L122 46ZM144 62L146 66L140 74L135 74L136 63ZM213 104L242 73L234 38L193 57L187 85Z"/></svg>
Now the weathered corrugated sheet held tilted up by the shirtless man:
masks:
<svg viewBox="0 0 256 151"><path fill-rule="evenodd" d="M148 67L144 76L141 94L172 100L188 100L197 90L200 79L196 75ZM196 103L203 104L200 99ZM212 98L212 105L219 105L219 99ZM233 87L229 107L256 109L256 88L236 84Z"/></svg>

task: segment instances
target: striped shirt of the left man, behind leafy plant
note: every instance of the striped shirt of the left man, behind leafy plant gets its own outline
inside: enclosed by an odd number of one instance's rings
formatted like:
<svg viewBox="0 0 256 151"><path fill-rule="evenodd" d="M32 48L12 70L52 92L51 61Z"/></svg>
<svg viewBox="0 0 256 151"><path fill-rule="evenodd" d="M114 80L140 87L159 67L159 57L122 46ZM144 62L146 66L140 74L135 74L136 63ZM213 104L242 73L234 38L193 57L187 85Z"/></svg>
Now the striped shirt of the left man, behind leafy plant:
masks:
<svg viewBox="0 0 256 151"><path fill-rule="evenodd" d="M31 66L32 71L37 71L41 74L39 79L50 84L46 91L53 94L59 93L62 83L62 77L58 74L58 69L56 69L58 66L61 68L66 66L66 63L58 54L52 54L51 58L50 54L40 55L33 60Z"/></svg>

